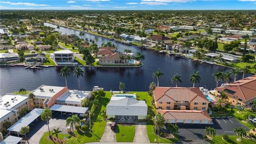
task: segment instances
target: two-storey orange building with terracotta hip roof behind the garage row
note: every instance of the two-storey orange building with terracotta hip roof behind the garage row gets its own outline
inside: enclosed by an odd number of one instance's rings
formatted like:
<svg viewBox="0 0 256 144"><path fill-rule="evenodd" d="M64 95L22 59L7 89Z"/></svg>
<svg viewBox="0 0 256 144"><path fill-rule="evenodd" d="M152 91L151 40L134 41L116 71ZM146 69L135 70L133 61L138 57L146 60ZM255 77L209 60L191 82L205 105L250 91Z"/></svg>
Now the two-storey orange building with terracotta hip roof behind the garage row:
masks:
<svg viewBox="0 0 256 144"><path fill-rule="evenodd" d="M209 101L198 87L156 87L157 109L208 110Z"/></svg>

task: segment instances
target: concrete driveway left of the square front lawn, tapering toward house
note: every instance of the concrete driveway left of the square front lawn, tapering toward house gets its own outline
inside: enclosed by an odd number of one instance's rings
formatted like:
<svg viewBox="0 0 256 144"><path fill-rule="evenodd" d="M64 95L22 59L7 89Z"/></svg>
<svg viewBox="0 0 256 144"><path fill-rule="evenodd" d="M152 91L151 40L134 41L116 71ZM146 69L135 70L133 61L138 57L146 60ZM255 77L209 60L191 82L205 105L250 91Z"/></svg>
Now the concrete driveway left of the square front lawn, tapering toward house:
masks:
<svg viewBox="0 0 256 144"><path fill-rule="evenodd" d="M111 130L110 124L111 122L107 122L100 142L116 142L116 133Z"/></svg>

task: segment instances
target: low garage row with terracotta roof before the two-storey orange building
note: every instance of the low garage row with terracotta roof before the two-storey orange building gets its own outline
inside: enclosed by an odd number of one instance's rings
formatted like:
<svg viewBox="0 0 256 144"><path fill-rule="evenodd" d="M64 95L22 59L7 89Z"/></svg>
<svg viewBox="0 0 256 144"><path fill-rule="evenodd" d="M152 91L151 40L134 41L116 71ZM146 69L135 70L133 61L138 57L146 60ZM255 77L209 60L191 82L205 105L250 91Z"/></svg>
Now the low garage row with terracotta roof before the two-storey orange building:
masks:
<svg viewBox="0 0 256 144"><path fill-rule="evenodd" d="M166 123L212 124L212 118L204 110L157 110Z"/></svg>

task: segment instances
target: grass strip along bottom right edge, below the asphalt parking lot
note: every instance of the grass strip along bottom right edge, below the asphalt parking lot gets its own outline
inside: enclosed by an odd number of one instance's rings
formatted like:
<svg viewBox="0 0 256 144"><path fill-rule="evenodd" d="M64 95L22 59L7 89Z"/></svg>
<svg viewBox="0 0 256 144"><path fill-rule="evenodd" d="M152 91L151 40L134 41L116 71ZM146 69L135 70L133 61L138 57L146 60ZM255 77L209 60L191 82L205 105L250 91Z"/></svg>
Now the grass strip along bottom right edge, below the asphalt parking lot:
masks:
<svg viewBox="0 0 256 144"><path fill-rule="evenodd" d="M221 135L216 135L212 140L207 140L210 143L222 143L222 144L227 144L227 143L243 143L243 144L249 144L249 143L256 143L255 139L244 139L242 138L242 141L239 142L236 139L238 138L236 135L229 135L229 140L225 141L222 140L222 136Z"/></svg>

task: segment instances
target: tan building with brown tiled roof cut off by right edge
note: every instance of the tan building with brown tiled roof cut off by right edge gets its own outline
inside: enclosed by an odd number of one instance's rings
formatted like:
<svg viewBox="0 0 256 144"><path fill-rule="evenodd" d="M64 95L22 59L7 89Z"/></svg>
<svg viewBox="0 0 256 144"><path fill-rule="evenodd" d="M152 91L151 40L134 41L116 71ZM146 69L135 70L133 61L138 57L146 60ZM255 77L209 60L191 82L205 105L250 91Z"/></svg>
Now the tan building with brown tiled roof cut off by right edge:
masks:
<svg viewBox="0 0 256 144"><path fill-rule="evenodd" d="M215 96L218 97L222 92L227 94L231 105L250 106L250 102L256 99L256 75L217 87Z"/></svg>

